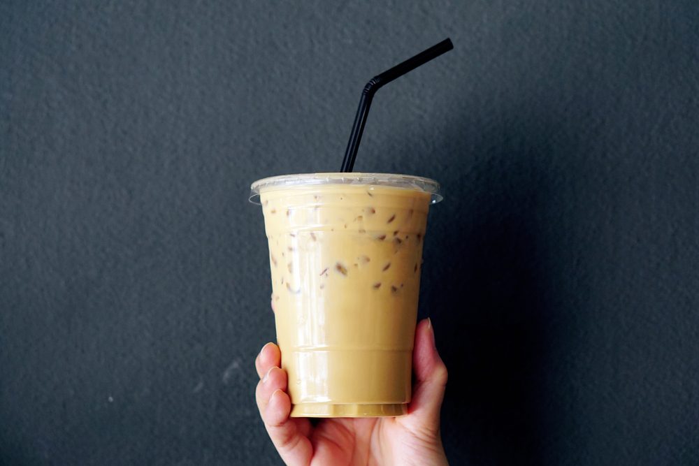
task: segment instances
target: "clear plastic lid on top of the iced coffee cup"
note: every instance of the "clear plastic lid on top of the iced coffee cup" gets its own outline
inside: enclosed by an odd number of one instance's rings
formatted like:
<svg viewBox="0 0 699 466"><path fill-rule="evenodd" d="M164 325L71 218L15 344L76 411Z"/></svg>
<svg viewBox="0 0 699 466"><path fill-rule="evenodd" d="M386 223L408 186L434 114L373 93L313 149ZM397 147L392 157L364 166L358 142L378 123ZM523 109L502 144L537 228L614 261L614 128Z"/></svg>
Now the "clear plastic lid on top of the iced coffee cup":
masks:
<svg viewBox="0 0 699 466"><path fill-rule="evenodd" d="M369 184L399 189L423 191L431 196L431 203L442 201L439 183L430 178L391 173L301 173L263 178L250 186L250 202L259 204L261 191L274 191L293 187L309 187L322 184Z"/></svg>

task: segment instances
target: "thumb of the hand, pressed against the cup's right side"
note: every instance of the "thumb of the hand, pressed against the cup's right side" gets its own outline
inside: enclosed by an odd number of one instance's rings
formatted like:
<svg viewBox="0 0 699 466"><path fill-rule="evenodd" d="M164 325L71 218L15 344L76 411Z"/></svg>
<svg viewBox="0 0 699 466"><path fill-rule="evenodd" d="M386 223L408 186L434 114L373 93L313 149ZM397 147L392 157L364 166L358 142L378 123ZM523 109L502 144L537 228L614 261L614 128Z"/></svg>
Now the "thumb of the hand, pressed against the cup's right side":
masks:
<svg viewBox="0 0 699 466"><path fill-rule="evenodd" d="M415 349L412 352L412 371L415 374L412 401L408 412L413 422L435 435L439 432L439 414L447 385L447 366L442 362L430 319L424 319L415 328Z"/></svg>

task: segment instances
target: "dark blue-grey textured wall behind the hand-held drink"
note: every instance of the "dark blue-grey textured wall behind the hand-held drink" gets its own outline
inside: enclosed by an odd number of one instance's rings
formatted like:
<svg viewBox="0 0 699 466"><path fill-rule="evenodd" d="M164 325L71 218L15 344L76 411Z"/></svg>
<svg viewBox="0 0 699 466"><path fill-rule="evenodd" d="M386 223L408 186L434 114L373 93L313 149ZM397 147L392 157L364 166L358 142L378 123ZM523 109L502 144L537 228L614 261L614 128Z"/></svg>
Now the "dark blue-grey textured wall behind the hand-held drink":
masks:
<svg viewBox="0 0 699 466"><path fill-rule="evenodd" d="M250 182L442 182L454 465L699 463L696 1L2 1L0 463L279 464Z"/></svg>

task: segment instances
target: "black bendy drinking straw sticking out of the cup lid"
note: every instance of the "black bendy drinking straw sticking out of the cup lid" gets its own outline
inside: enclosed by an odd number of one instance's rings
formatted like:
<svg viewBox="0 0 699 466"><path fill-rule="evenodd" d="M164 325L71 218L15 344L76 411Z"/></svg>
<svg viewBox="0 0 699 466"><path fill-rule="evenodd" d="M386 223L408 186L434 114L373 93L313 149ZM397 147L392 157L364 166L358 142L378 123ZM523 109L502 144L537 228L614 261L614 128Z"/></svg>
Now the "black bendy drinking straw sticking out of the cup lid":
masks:
<svg viewBox="0 0 699 466"><path fill-rule="evenodd" d="M364 132L366 117L369 115L369 107L376 91L392 80L401 77L420 65L426 64L433 58L439 57L442 53L449 52L452 48L454 48L452 41L446 38L437 45L433 45L431 48L415 55L415 57L409 58L388 71L374 76L366 83L364 90L361 92L361 99L359 99L359 108L356 109L354 126L352 126L352 133L349 134L349 142L347 143L347 150L345 150L345 159L343 160L343 168L340 169L341 172L351 172L352 168L354 168L354 159L356 159L356 151L359 150L361 133Z"/></svg>

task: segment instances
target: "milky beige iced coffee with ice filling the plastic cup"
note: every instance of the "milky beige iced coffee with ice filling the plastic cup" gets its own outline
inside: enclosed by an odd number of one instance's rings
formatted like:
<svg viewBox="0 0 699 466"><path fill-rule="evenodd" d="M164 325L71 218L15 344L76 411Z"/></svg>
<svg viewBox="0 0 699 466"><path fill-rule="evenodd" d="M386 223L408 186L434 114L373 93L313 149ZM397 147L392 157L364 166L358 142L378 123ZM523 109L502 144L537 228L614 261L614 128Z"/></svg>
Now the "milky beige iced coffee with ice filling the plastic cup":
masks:
<svg viewBox="0 0 699 466"><path fill-rule="evenodd" d="M291 416L405 414L430 194L322 184L260 201Z"/></svg>

